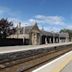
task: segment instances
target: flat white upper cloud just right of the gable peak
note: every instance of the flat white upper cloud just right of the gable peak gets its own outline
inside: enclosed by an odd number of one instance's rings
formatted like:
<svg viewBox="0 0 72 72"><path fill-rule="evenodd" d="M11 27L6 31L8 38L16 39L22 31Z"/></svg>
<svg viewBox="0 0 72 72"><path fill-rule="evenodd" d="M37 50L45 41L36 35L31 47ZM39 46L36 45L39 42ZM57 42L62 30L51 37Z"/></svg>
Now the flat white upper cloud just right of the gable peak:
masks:
<svg viewBox="0 0 72 72"><path fill-rule="evenodd" d="M39 23L46 23L46 24L55 24L55 25L64 24L64 18L62 16L37 15L35 16L35 20Z"/></svg>

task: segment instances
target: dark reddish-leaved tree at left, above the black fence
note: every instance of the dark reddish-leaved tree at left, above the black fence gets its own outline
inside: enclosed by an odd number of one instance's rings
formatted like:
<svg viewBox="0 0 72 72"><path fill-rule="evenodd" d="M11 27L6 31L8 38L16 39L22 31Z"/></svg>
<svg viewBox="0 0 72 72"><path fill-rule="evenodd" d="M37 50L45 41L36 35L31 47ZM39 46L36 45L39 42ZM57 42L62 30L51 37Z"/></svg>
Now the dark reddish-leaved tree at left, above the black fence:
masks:
<svg viewBox="0 0 72 72"><path fill-rule="evenodd" d="M0 20L0 38L6 38L6 36L10 35L12 29L12 22L9 22L7 19L4 18Z"/></svg>

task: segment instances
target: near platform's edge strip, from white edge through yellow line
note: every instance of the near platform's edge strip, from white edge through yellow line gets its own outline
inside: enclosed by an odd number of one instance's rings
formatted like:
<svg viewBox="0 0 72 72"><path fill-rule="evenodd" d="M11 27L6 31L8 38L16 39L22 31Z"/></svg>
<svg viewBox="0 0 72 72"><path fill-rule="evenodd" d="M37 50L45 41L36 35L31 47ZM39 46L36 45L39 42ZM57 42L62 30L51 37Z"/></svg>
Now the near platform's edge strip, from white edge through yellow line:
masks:
<svg viewBox="0 0 72 72"><path fill-rule="evenodd" d="M72 60L72 51L33 70L32 72L60 72Z"/></svg>

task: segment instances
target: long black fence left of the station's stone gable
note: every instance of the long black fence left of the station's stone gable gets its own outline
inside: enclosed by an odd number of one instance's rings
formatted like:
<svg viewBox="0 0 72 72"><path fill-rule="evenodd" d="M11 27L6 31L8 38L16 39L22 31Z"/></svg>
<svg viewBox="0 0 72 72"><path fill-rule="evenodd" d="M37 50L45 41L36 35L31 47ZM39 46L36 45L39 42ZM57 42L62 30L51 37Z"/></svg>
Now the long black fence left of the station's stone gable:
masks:
<svg viewBox="0 0 72 72"><path fill-rule="evenodd" d="M23 43L23 39L0 39L0 46L15 46L15 45L28 45L28 39L24 40Z"/></svg>

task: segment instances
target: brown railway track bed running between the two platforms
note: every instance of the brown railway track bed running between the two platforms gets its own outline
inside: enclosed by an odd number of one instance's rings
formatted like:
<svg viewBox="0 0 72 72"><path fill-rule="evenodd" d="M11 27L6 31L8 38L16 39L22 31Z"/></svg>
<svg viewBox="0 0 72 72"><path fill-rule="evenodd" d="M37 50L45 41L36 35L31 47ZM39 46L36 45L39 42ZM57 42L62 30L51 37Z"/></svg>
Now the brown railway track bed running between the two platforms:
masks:
<svg viewBox="0 0 72 72"><path fill-rule="evenodd" d="M55 47L48 52L40 53L32 57L12 61L0 61L0 72L31 72L33 69L70 50L72 50L70 46L67 48L60 47L59 49Z"/></svg>

